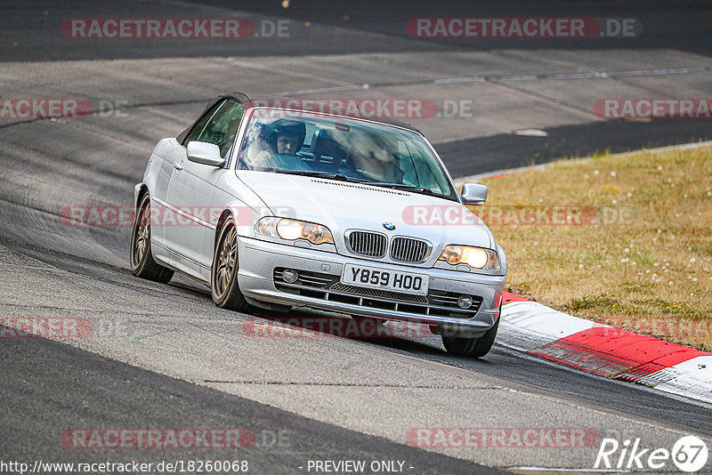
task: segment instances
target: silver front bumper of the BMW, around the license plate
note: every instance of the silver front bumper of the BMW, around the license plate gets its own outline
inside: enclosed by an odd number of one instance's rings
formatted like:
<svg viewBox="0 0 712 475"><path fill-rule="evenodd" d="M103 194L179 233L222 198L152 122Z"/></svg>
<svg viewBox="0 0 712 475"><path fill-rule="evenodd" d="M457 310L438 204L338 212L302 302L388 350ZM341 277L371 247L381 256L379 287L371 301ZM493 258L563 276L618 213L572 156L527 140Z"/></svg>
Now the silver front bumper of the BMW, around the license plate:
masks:
<svg viewBox="0 0 712 475"><path fill-rule="evenodd" d="M240 237L238 242L239 288L248 300L258 306L303 306L363 317L418 322L437 326L439 334L466 337L481 336L499 318L504 276L393 265L255 238ZM400 294L408 299L404 301L397 293L339 285L345 263L427 274L430 277L429 294L427 297ZM299 280L289 285L279 280L280 269L293 269L300 275L314 277L308 278L309 286ZM344 292L344 287L349 288ZM454 303L449 303L449 307L440 303L453 302L457 299L453 295L459 294L472 295L479 307L465 312ZM429 302L413 302L418 298ZM439 299L438 302L433 298Z"/></svg>

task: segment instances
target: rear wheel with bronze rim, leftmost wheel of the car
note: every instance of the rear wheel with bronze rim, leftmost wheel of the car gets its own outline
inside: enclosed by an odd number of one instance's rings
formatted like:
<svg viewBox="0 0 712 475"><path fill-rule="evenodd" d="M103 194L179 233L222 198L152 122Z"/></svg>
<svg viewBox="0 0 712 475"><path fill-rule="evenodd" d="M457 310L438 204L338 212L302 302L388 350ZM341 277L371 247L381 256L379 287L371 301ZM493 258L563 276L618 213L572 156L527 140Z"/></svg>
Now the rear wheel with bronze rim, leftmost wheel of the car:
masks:
<svg viewBox="0 0 712 475"><path fill-rule="evenodd" d="M167 284L173 278L173 270L154 261L150 251L150 197L142 196L136 208L134 230L131 233L131 271L134 276Z"/></svg>

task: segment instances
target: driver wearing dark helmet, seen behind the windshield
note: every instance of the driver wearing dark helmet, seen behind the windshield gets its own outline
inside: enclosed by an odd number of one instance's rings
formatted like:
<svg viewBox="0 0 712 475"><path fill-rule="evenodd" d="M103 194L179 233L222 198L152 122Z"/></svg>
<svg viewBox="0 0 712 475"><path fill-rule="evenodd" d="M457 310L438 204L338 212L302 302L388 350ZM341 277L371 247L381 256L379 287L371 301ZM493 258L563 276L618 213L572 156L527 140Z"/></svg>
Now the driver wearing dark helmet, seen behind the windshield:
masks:
<svg viewBox="0 0 712 475"><path fill-rule="evenodd" d="M306 127L293 119L279 119L266 125L261 133L263 150L252 157L250 165L279 170L309 170L296 152L302 149ZM266 146L266 149L264 149Z"/></svg>

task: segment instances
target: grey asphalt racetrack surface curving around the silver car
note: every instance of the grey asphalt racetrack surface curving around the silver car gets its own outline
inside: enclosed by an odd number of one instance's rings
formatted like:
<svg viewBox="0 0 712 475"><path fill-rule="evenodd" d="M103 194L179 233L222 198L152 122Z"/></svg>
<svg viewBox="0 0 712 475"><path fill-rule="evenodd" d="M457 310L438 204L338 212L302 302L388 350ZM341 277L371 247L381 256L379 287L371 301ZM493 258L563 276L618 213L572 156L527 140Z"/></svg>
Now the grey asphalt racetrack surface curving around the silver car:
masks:
<svg viewBox="0 0 712 475"><path fill-rule="evenodd" d="M0 472L20 472L2 463L37 460L247 461L252 473L313 473L314 461L346 460L366 461L363 473L592 471L605 438L670 450L696 435L712 447L707 404L498 345L473 360L448 355L434 336L255 337L248 322L272 315L217 309L188 278L134 278L130 226L59 218L68 206L133 206L155 143L233 90L432 101L437 113L408 120L455 177L712 140L708 119L604 120L594 111L604 98L709 98L708 3L8 1L4 12L1 98L81 98L95 113L0 118L0 317L85 318L93 327L85 338L0 338ZM633 18L643 29L576 39L409 36L408 20L422 17ZM61 33L63 20L97 18L240 18L259 35ZM278 21L287 36L266 34ZM239 449L132 450L76 448L66 436L175 428L239 428L255 439ZM432 447L413 442L418 428L595 437L558 447Z"/></svg>

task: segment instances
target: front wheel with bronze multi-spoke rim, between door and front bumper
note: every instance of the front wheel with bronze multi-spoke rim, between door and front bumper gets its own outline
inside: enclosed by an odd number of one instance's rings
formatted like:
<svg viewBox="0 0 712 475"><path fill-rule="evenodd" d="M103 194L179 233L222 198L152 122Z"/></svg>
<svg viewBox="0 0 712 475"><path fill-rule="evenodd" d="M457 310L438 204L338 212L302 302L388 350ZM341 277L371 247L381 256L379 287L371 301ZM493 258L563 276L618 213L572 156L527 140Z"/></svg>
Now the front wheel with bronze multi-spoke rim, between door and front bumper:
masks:
<svg viewBox="0 0 712 475"><path fill-rule="evenodd" d="M246 312L252 308L238 284L238 232L235 221L228 217L215 242L213 266L210 270L210 293L221 309Z"/></svg>

